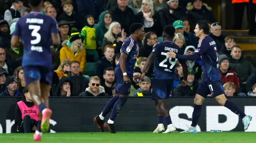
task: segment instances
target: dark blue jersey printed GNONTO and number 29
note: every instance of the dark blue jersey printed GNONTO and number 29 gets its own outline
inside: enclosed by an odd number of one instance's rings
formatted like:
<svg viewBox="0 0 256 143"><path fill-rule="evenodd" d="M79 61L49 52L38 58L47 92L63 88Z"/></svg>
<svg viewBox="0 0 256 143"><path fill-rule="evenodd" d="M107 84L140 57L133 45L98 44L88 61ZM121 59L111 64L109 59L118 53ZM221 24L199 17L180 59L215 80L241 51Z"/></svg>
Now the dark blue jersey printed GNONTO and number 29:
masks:
<svg viewBox="0 0 256 143"><path fill-rule="evenodd" d="M169 58L167 52L174 52L183 55L182 50L171 41L156 43L153 46L152 53L156 55L154 61L153 78L154 79L173 79L175 73L175 65L178 59Z"/></svg>

